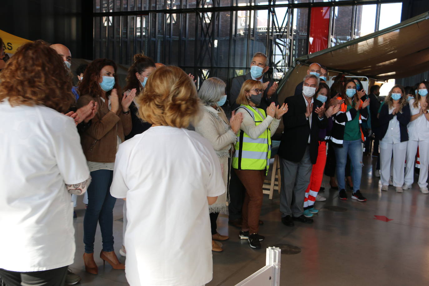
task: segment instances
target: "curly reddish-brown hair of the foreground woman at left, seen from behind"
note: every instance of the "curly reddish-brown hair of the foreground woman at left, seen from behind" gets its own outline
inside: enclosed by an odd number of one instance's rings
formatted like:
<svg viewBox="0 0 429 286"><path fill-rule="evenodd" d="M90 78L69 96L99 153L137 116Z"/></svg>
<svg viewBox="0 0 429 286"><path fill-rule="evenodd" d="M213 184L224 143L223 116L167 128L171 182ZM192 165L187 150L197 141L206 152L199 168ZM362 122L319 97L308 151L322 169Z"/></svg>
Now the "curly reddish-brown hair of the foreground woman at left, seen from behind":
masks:
<svg viewBox="0 0 429 286"><path fill-rule="evenodd" d="M0 73L0 102L11 106L45 105L66 112L76 102L72 75L63 59L47 42L22 45Z"/></svg>

